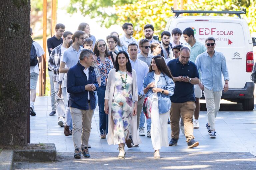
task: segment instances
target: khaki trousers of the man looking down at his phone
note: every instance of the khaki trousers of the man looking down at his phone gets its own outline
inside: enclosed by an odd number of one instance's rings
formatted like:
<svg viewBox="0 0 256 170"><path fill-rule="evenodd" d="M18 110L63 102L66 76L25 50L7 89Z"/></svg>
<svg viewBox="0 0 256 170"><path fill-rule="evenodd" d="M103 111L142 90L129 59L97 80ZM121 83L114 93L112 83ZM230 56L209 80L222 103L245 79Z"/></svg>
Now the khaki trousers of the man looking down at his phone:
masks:
<svg viewBox="0 0 256 170"><path fill-rule="evenodd" d="M196 108L194 101L188 101L185 103L173 103L171 105L170 111L170 124L171 124L171 137L174 139L179 139L180 134L180 116L184 122L184 130L186 141L189 139L194 139L193 135L193 115Z"/></svg>

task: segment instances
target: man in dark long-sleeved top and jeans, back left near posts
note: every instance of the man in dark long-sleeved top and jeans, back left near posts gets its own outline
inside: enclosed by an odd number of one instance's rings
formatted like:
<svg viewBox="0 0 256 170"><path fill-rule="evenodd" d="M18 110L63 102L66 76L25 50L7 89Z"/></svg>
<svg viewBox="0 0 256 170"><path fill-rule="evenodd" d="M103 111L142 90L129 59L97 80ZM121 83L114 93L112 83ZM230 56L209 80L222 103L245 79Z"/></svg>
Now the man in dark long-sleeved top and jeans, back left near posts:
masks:
<svg viewBox="0 0 256 170"><path fill-rule="evenodd" d="M55 26L55 35L49 39L47 39L47 49L49 52L49 56L51 55L52 50L57 47L58 45L63 43L63 33L65 32L65 25L64 24L56 24ZM48 68L48 74L50 78L50 85L51 85L51 105L52 105L52 112L49 114L53 116L56 114L56 99L55 99L55 92L54 92L54 83L53 83L53 71Z"/></svg>

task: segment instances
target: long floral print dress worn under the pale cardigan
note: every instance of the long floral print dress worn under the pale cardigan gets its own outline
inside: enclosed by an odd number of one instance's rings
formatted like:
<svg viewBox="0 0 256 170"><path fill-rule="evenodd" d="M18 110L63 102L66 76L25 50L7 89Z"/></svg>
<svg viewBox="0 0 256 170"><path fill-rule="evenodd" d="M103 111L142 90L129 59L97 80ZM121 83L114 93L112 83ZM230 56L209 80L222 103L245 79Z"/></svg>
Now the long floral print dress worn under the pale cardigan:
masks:
<svg viewBox="0 0 256 170"><path fill-rule="evenodd" d="M119 70L115 74L115 91L111 106L114 120L114 144L125 143L132 120L132 74L127 72L125 88L120 75L125 81L126 72Z"/></svg>

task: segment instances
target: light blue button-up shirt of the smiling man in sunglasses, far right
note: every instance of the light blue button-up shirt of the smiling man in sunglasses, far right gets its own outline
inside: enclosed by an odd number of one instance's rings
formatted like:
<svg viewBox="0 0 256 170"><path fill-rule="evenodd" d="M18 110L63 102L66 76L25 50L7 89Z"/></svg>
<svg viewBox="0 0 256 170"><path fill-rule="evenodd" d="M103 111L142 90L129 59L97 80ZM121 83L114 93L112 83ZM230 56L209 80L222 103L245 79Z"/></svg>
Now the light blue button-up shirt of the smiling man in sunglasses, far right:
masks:
<svg viewBox="0 0 256 170"><path fill-rule="evenodd" d="M224 81L229 80L226 59L223 53L214 51L213 56L210 57L205 51L197 56L195 64L198 70L201 71L201 80L204 87L214 92L222 91L221 73Z"/></svg>

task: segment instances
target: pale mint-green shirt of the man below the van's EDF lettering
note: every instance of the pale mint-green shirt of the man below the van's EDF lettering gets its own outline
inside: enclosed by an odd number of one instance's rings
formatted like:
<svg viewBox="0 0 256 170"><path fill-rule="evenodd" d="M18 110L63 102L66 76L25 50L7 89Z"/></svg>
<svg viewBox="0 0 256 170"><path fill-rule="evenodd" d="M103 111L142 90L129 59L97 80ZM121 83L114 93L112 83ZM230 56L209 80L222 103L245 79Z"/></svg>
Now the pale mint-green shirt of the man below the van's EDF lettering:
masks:
<svg viewBox="0 0 256 170"><path fill-rule="evenodd" d="M196 57L199 54L202 54L204 51L206 51L206 47L203 43L198 42L196 40L196 43L191 47L189 43L185 43L185 46L190 48L190 61L195 62L196 61Z"/></svg>

